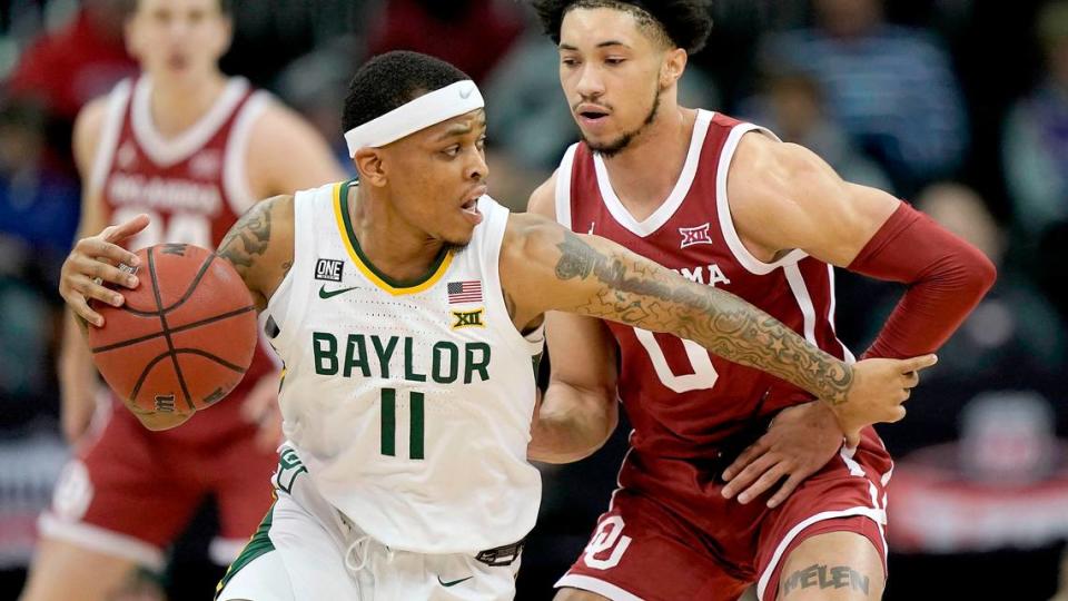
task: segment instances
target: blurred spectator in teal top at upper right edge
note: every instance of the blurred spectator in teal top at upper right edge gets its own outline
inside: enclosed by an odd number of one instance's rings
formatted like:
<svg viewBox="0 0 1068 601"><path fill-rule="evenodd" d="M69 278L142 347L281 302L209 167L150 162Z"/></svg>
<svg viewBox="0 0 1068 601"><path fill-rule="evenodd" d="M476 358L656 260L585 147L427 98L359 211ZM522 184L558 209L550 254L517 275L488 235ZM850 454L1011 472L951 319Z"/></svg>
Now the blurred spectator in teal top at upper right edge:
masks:
<svg viewBox="0 0 1068 601"><path fill-rule="evenodd" d="M1068 219L1068 1L1047 4L1037 28L1046 73L1012 108L1002 145L1012 216L1028 235Z"/></svg>

